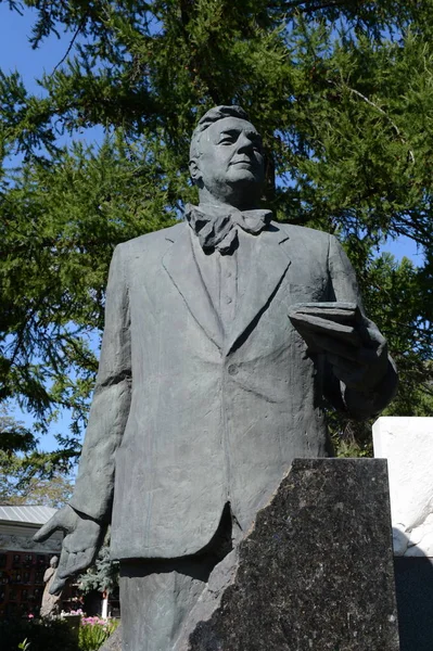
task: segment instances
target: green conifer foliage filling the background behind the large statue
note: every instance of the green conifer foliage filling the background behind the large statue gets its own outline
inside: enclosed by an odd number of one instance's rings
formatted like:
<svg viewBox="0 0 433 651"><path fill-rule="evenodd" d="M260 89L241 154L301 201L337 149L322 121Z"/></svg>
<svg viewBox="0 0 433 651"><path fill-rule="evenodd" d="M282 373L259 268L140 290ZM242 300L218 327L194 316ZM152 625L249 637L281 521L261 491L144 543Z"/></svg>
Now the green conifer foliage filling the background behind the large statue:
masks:
<svg viewBox="0 0 433 651"><path fill-rule="evenodd" d="M214 104L242 104L262 131L277 218L346 247L399 366L389 413L431 414L433 0L26 7L31 47L65 29L71 46L40 79L43 97L0 74L0 399L17 398L42 432L71 410L58 462L79 450L113 247L194 200L189 138ZM95 125L103 144L84 146ZM419 245L419 268L374 258L398 235ZM334 431L362 438L345 421Z"/></svg>

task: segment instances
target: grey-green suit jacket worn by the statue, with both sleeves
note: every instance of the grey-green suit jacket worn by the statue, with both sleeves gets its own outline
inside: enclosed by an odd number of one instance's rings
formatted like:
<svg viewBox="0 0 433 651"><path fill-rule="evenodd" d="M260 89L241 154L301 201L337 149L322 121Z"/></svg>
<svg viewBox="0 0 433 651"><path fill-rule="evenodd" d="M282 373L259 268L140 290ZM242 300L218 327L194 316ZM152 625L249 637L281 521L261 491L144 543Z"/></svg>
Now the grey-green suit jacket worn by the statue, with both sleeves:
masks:
<svg viewBox="0 0 433 651"><path fill-rule="evenodd" d="M272 222L254 240L224 335L191 237L182 222L137 238L116 247L111 265L71 505L112 522L114 558L194 553L227 502L249 527L295 457L328 454L322 396L344 408L344 386L288 318L298 302L359 304L336 240ZM394 387L390 366L373 399L357 397L357 416L378 412Z"/></svg>

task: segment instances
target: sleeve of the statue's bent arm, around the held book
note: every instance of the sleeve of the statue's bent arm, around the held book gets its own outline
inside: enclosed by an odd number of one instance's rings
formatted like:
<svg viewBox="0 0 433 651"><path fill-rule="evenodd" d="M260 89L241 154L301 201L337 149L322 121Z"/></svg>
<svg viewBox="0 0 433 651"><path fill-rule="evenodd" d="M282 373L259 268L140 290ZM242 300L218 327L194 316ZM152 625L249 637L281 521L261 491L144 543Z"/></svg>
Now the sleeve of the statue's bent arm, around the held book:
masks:
<svg viewBox="0 0 433 651"><path fill-rule="evenodd" d="M361 310L364 324L379 333L379 329L364 312L362 301L356 281L355 271L339 241L330 235L328 268L331 280L330 301L356 303ZM338 408L348 411L352 418L365 420L377 416L393 399L397 387L397 371L391 356L387 359L385 374L378 384L362 392L346 387L328 368L324 395Z"/></svg>

